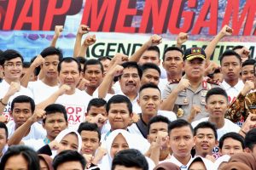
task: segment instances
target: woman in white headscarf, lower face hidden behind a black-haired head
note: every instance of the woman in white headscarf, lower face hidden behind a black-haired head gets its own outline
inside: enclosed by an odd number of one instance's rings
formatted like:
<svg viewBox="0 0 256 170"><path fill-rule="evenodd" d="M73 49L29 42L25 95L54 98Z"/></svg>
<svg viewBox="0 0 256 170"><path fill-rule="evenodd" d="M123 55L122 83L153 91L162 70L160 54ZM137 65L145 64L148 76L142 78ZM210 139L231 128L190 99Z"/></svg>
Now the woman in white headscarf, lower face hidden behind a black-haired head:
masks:
<svg viewBox="0 0 256 170"><path fill-rule="evenodd" d="M108 154L106 156L103 156L102 162L99 164L99 167L104 170L111 169L113 156L115 156L120 150L140 150L140 148L137 147L135 140L136 139L132 138L131 133L123 129L118 129L111 132L108 136L108 139L106 140ZM148 161L148 169L152 170L154 168L154 162L147 157L146 159Z"/></svg>

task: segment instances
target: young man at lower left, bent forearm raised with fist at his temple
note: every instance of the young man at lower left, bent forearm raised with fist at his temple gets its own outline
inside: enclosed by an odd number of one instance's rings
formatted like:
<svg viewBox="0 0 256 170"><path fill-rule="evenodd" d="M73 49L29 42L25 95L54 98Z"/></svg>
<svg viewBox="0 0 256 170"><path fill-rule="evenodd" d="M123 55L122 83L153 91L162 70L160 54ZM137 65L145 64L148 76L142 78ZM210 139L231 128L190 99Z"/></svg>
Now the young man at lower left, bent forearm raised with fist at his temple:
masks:
<svg viewBox="0 0 256 170"><path fill-rule="evenodd" d="M43 119L43 127L46 131L46 135L42 139L22 139L27 129L32 127L34 123ZM44 111L37 110L35 113L27 119L27 121L21 125L9 139L9 145L13 144L25 144L31 147L33 150L39 150L44 144L49 144L55 137L61 133L62 130L68 126L67 111L63 105L52 104L48 105Z"/></svg>

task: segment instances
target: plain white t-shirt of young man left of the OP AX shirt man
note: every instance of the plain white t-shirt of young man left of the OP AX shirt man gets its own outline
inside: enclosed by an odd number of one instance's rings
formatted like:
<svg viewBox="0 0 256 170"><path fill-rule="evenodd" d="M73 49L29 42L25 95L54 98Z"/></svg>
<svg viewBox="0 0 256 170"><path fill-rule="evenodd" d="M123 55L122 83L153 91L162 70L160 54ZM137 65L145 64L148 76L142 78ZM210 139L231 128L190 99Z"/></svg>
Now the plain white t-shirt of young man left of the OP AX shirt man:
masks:
<svg viewBox="0 0 256 170"><path fill-rule="evenodd" d="M36 82L28 82L27 88L32 91L36 105L45 99L48 99L51 94L54 94L59 89L58 86L48 86L41 80Z"/></svg>

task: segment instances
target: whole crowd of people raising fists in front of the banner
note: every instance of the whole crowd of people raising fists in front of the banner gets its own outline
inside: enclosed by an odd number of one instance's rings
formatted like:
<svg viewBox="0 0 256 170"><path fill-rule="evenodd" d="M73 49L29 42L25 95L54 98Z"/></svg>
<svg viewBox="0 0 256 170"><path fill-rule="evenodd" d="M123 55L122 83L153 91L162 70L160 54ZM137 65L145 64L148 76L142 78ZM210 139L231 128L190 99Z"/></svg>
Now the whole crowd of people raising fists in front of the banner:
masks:
<svg viewBox="0 0 256 170"><path fill-rule="evenodd" d="M84 25L63 57L62 30L30 62L0 53L0 170L256 170L256 61L243 46L210 59L232 28L205 49L181 32L163 54L153 35L99 59Z"/></svg>

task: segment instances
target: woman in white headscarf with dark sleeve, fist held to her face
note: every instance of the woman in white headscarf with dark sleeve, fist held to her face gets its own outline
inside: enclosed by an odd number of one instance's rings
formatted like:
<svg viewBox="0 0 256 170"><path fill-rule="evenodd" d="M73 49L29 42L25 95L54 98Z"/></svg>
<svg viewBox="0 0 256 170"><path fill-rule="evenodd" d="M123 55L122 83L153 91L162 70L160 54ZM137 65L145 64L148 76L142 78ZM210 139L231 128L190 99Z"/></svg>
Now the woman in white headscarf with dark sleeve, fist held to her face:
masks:
<svg viewBox="0 0 256 170"><path fill-rule="evenodd" d="M55 140L49 144L45 144L38 154L46 154L54 158L62 150L77 150L79 153L82 148L82 139L80 134L73 129L62 130L61 133L56 136Z"/></svg>

